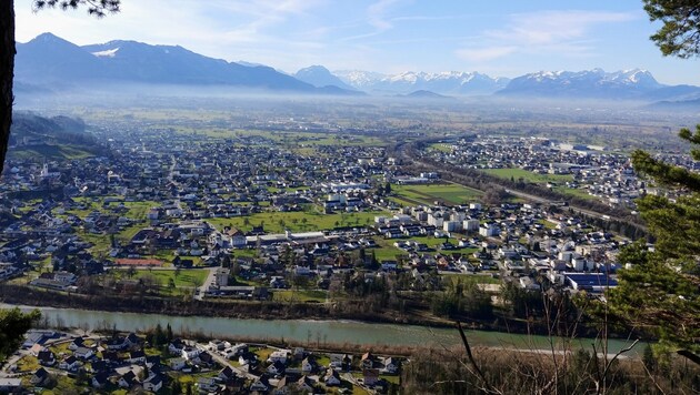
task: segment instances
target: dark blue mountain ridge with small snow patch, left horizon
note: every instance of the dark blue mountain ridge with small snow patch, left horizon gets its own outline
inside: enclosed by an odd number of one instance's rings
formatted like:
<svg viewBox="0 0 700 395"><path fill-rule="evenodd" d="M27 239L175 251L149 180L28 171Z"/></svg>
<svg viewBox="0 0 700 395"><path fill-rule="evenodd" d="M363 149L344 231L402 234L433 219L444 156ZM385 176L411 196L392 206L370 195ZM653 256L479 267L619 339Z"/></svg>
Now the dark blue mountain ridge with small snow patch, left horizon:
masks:
<svg viewBox="0 0 700 395"><path fill-rule="evenodd" d="M51 33L18 44L16 80L32 85L98 82L231 85L303 93L326 93L269 67L248 67L207 58L176 45L110 41L79 47ZM342 90L332 90L342 94Z"/></svg>

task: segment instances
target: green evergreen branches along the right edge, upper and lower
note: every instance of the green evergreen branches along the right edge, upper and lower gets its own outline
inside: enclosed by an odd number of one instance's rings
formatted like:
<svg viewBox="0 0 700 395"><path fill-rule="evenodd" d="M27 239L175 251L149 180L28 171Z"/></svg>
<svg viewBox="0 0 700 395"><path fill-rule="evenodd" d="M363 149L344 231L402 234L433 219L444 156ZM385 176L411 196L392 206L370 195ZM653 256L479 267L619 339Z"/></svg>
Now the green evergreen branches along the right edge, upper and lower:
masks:
<svg viewBox="0 0 700 395"><path fill-rule="evenodd" d="M651 37L664 55L700 54L700 4L697 0L644 0L651 20L663 27ZM682 129L691 155L700 160L700 125ZM647 195L637 201L653 250L637 242L622 251L619 286L608 292L610 312L630 327L660 340L660 347L700 365L700 174L664 163L644 151L632 153L634 170L681 198Z"/></svg>

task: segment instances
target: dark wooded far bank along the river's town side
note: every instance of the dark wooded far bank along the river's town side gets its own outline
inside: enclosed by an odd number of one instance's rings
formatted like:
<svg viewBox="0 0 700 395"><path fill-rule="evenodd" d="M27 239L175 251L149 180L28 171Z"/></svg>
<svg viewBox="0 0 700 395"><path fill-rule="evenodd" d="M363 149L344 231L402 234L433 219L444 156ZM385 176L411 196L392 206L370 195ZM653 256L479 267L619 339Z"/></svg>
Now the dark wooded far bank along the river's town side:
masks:
<svg viewBox="0 0 700 395"><path fill-rule="evenodd" d="M353 321L367 324L401 324L432 328L454 330L460 321L472 331L508 334L532 334L547 336L548 327L537 322L493 316L490 320L456 317L444 320L431 315L418 304L407 303L406 312L391 308L362 308L362 302L343 301L334 303L288 303L271 301L208 301L146 295L84 295L40 290L26 285L0 284L0 303L53 308L84 311L162 314L168 316L200 316L237 320L280 320L280 321ZM596 331L577 325L576 337L594 337ZM628 336L610 334L610 337L624 340Z"/></svg>

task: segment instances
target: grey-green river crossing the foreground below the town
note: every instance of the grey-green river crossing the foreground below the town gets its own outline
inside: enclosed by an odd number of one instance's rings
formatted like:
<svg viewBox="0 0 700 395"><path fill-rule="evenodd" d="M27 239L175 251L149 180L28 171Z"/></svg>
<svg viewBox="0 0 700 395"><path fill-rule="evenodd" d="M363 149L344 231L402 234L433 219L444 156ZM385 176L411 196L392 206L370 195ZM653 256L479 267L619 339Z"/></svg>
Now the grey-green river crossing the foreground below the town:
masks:
<svg viewBox="0 0 700 395"><path fill-rule="evenodd" d="M0 308L13 307L0 304ZM24 311L33 307L20 306ZM310 321L310 320L240 320L201 316L171 316L160 314L112 313L74 308L37 307L49 326L74 327L82 330L106 330L140 332L168 324L174 333L201 333L211 338L256 338L260 341L294 341L311 345L362 344L391 346L453 346L460 344L459 332L451 328L429 328L418 325L374 324L357 321ZM546 336L509 334L489 331L467 331L471 345L501 346L519 350L548 350ZM589 338L576 340L579 346L591 348L594 342ZM629 346L631 342L609 341L609 353ZM641 355L643 345L638 344L629 356Z"/></svg>

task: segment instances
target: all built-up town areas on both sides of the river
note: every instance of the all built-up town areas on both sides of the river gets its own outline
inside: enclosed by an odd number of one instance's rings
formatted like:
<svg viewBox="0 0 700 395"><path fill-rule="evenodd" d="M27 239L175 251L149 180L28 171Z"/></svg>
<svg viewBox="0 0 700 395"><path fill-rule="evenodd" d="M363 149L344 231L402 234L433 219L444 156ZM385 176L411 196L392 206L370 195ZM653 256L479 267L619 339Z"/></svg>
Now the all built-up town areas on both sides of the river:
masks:
<svg viewBox="0 0 700 395"><path fill-rule="evenodd" d="M173 314L263 318L280 311L291 318L436 325L467 318L518 330L506 322L543 314L522 303L546 291L604 298L617 285L618 254L632 242L620 232L626 224L611 227L566 204L486 202L483 191L439 172L412 171L374 134L186 124L129 119L96 126L106 155L11 155L0 186L6 300L62 306L82 296L142 313L161 313L152 310L161 301L179 306ZM651 193L622 155L544 140L473 139L436 143L423 155L484 171L517 168L519 178L576 193L586 185L596 199L630 209L638 193ZM110 305L119 300L131 305ZM201 343L164 332L34 332L0 383L387 393L408 363L370 348L354 355Z"/></svg>

